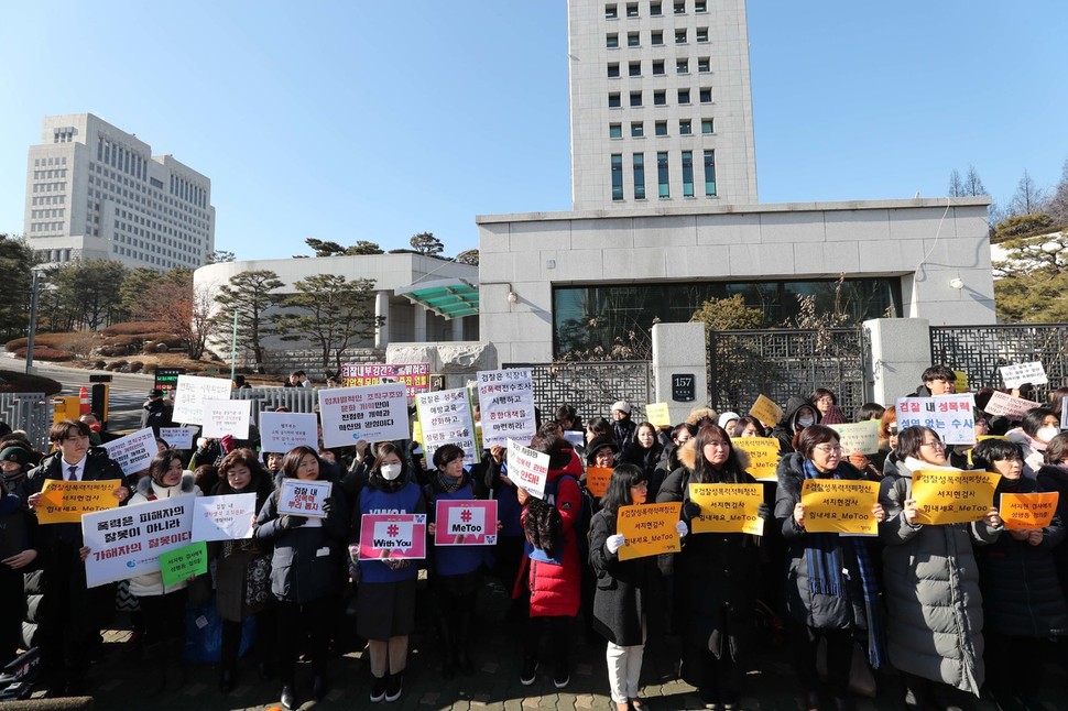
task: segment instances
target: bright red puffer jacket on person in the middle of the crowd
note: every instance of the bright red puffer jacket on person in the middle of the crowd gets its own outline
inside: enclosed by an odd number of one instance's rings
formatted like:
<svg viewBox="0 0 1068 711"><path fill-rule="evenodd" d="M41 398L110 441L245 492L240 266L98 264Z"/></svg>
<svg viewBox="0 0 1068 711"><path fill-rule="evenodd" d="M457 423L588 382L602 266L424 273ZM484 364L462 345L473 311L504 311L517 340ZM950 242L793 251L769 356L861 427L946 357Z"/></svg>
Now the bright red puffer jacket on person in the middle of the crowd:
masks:
<svg viewBox="0 0 1068 711"><path fill-rule="evenodd" d="M579 598L582 584L582 561L579 560L579 546L575 524L578 521L582 494L578 488L579 477L582 475L582 462L570 450L571 459L563 469L549 469L548 486L556 482L556 505L560 512L564 529L563 565L554 565L541 560L523 557L519 578L515 581L514 597L523 594L523 584L531 593L531 616L574 617L578 614ZM562 481L562 477L567 479ZM526 507L523 508L526 515Z"/></svg>

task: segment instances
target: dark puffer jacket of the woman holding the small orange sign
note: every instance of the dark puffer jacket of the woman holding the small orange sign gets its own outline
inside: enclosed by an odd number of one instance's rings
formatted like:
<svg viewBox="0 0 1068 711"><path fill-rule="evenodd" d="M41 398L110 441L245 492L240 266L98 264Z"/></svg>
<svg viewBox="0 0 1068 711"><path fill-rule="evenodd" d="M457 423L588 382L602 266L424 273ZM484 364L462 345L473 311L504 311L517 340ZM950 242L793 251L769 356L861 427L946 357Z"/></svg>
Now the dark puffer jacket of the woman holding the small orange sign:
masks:
<svg viewBox="0 0 1068 711"><path fill-rule="evenodd" d="M1002 494L1033 494L1038 483L1021 477L1002 478L994 505ZM1057 578L1054 550L1065 539L1060 517L1054 515L1043 528L1042 543L1032 546L1007 530L989 546L976 549L979 584L983 591L983 616L991 632L1014 637L1049 637L1068 634L1068 606Z"/></svg>

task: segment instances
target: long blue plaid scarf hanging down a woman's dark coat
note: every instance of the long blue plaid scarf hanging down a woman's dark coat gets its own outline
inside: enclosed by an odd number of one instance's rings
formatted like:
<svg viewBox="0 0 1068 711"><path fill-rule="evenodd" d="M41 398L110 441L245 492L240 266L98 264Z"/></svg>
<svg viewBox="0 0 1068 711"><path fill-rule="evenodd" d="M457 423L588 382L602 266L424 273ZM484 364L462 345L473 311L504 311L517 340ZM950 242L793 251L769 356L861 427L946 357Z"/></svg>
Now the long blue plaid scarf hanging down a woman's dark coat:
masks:
<svg viewBox="0 0 1068 711"><path fill-rule="evenodd" d="M835 470L833 478L843 478L840 470ZM807 459L805 460L805 479L819 479L816 467ZM819 593L835 598L846 597L841 576L841 547L843 545L852 546L858 572L860 572L861 590L864 594L864 608L868 612L868 660L872 668L878 669L883 660L883 616L879 602L875 570L872 568L864 539L857 536L849 536L843 539L833 533L807 534L805 539L809 590L813 594Z"/></svg>

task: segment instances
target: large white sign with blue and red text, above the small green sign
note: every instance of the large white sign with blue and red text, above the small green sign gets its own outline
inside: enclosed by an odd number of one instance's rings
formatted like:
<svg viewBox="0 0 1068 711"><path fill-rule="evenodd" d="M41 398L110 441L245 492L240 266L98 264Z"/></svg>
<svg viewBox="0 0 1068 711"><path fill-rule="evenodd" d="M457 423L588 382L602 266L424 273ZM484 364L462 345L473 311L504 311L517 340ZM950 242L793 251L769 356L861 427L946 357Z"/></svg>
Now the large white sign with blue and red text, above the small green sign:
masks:
<svg viewBox="0 0 1068 711"><path fill-rule="evenodd" d="M89 548L86 586L159 571L160 554L192 543L195 501L193 495L175 496L81 516L81 537Z"/></svg>

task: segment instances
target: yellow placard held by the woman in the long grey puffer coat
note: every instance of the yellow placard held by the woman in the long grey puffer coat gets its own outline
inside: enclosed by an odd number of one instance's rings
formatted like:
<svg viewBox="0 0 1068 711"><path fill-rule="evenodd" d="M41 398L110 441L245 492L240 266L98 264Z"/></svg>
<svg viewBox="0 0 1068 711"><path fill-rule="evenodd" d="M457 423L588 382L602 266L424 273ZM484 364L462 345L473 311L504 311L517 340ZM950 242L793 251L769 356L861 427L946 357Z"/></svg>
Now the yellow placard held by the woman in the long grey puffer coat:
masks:
<svg viewBox="0 0 1068 711"><path fill-rule="evenodd" d="M979 521L994 505L1001 474L985 471L913 472L913 499L918 524L957 524Z"/></svg>

